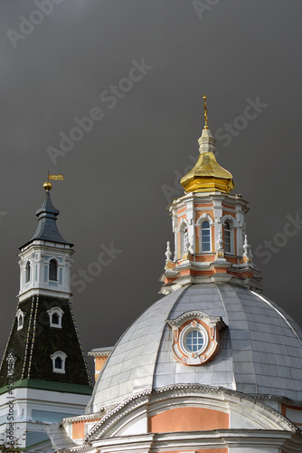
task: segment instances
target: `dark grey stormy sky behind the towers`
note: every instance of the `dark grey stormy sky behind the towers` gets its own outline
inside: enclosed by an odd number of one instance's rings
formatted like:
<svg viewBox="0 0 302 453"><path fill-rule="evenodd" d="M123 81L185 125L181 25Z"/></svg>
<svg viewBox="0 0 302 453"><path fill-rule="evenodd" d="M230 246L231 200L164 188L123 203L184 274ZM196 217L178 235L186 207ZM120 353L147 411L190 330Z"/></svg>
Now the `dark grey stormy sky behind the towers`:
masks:
<svg viewBox="0 0 302 453"><path fill-rule="evenodd" d="M203 93L217 159L250 201L264 294L302 323L301 14L300 0L2 0L1 351L47 169L64 176L52 201L75 244L85 351L113 345L156 301L173 242L167 192L182 194L175 180L197 159ZM101 119L60 149L91 110ZM99 272L91 263L111 244L122 252Z"/></svg>

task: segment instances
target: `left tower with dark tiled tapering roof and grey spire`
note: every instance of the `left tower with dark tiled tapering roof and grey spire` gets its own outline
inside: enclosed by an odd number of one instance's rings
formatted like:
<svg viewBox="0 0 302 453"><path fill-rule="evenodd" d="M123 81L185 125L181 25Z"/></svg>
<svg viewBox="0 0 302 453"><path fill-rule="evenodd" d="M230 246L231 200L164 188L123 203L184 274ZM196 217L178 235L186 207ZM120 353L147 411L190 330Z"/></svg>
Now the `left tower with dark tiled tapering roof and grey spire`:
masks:
<svg viewBox="0 0 302 453"><path fill-rule="evenodd" d="M71 308L73 245L56 226L52 184L43 187L38 226L19 254L19 303L0 370L0 432L23 448L48 439L47 424L80 414L91 393Z"/></svg>

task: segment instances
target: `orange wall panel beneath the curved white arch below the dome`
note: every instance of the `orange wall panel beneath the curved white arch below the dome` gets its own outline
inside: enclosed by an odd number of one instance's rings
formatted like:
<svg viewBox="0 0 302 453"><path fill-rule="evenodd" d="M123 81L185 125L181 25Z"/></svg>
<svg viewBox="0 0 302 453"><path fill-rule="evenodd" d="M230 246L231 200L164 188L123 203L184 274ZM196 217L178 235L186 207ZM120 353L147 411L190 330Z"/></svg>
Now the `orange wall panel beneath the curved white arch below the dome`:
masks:
<svg viewBox="0 0 302 453"><path fill-rule="evenodd" d="M204 408L165 410L149 418L149 432L229 429L229 414Z"/></svg>

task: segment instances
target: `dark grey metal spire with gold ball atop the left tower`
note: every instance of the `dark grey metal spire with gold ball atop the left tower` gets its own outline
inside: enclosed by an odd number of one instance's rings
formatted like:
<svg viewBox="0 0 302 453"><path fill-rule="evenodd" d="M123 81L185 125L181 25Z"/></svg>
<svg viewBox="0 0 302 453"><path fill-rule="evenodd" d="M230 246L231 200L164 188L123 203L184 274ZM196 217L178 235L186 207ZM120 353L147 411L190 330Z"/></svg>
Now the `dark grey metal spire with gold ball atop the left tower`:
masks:
<svg viewBox="0 0 302 453"><path fill-rule="evenodd" d="M52 198L50 194L52 183L50 181L45 182L43 184L43 188L45 189L45 198L42 203L42 207L40 207L40 209L38 209L35 213L38 217L38 226L31 240L24 244L24 246L27 246L34 240L57 242L73 246L73 244L66 241L61 236L61 233L56 226L56 220L60 214L60 211L52 205Z"/></svg>

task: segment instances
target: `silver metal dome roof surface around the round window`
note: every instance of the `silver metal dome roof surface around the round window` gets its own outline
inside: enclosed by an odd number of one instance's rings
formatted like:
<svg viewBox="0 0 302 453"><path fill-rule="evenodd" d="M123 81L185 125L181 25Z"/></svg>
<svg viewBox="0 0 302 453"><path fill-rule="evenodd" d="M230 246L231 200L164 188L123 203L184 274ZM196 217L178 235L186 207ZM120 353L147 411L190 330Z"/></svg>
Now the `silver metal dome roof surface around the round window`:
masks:
<svg viewBox="0 0 302 453"><path fill-rule="evenodd" d="M202 366L176 361L166 320L189 311L221 316L220 351ZM153 304L117 342L88 412L141 390L179 383L302 400L302 331L278 305L231 284L193 284Z"/></svg>

